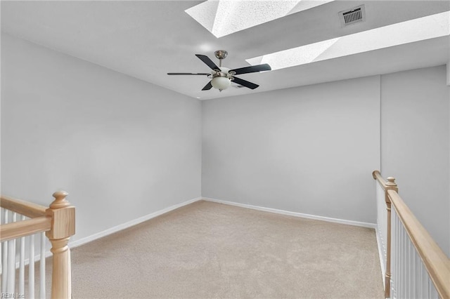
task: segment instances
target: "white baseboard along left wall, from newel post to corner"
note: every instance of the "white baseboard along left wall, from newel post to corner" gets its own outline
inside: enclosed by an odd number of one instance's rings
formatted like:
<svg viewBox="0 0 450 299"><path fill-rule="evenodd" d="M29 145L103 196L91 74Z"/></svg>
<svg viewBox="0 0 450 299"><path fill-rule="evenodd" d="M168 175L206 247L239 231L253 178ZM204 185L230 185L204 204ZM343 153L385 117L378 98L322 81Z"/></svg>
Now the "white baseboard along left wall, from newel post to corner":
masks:
<svg viewBox="0 0 450 299"><path fill-rule="evenodd" d="M78 240L75 240L73 242L69 242L69 246L70 246L70 248L81 246L83 244L89 243L89 242L94 241L96 239L100 239L101 237L108 236L108 234L113 234L115 232L119 232L120 230L124 230L124 229L126 229L128 227L131 227L133 225L137 225L137 224L139 224L141 222L144 222L144 221L150 220L152 218L158 217L159 215L162 215L162 214L168 213L170 211L173 211L176 208L181 208L181 206L186 206L188 204L192 204L193 202L199 201L201 199L202 199L202 197L198 197L196 199L190 199L188 201L184 201L181 204L174 204L173 206L169 206L167 208L163 208L160 211L156 211L156 212L150 213L148 215L142 216L140 218L136 218L134 220L122 223L121 225L117 225L115 227L111 227L108 230L103 230L103 232L98 232L96 234L92 234L89 237L84 237L82 239L78 239Z"/></svg>

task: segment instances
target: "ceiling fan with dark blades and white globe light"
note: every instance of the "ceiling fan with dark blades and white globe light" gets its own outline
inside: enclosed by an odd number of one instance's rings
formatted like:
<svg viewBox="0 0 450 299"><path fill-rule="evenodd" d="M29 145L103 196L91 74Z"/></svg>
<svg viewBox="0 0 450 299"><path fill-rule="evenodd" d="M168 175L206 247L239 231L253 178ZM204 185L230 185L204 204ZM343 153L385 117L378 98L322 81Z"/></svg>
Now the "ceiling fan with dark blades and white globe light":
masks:
<svg viewBox="0 0 450 299"><path fill-rule="evenodd" d="M250 67L240 67L238 69L229 69L228 67L222 67L222 60L226 58L228 52L224 50L215 51L214 55L219 59L219 66L217 66L210 58L206 55L195 54L200 60L205 62L205 64L212 69L210 73L167 73L168 75L200 75L207 76L211 80L208 84L203 87L202 91L209 91L212 87L223 91L231 85L231 81L240 84L242 86L248 87L250 89L255 89L259 85L254 84L249 81L245 81L238 77L237 74L248 74L254 72L270 71L271 67L268 64L264 65L251 65Z"/></svg>

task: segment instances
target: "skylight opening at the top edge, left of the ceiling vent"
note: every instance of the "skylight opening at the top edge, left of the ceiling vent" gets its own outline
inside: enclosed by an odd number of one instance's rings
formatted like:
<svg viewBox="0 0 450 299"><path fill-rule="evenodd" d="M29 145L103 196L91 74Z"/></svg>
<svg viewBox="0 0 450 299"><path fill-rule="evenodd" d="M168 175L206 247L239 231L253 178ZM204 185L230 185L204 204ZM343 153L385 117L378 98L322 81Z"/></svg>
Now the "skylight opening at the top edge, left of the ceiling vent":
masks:
<svg viewBox="0 0 450 299"><path fill-rule="evenodd" d="M186 9L186 13L214 36L221 37L331 1L334 0L208 0Z"/></svg>

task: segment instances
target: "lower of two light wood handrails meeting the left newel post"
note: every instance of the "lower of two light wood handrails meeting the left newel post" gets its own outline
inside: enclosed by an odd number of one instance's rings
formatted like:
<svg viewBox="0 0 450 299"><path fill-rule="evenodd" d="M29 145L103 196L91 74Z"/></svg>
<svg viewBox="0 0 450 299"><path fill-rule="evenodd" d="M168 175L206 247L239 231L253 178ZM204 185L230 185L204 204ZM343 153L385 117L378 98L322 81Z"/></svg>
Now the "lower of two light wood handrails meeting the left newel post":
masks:
<svg viewBox="0 0 450 299"><path fill-rule="evenodd" d="M41 216L28 220L11 222L1 225L0 241L8 241L26 237L37 232L46 232L51 229L51 217Z"/></svg>

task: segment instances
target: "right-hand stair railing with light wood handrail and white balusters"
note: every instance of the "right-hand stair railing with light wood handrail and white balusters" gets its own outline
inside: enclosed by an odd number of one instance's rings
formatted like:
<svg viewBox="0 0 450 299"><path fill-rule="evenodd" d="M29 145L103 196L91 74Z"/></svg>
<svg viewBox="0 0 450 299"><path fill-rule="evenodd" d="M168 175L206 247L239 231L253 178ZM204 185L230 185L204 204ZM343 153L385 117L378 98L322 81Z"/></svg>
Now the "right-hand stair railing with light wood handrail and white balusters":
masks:
<svg viewBox="0 0 450 299"><path fill-rule="evenodd" d="M425 281L429 280L432 282L432 285L439 295L439 298L449 299L450 298L450 259L447 258L445 253L441 248L436 244L435 240L432 239L430 234L425 230L423 225L417 220L416 216L413 215L411 210L406 206L404 201L398 194L398 187L395 183L395 179L392 177L387 178L387 181L383 179L380 174L380 171L373 171L373 178L377 180L383 190L385 191L385 203L387 209L387 257L386 257L386 265L385 265L385 298L426 298L434 297L430 295L434 292L430 287L428 290L422 289L422 286L419 284L423 284ZM393 212L392 211L392 207ZM398 219L401 228L399 225L395 224L395 229L392 231L392 223L391 219ZM392 234L396 234L397 231L404 230L406 231L406 235L411 241L415 252L418 255L419 262L422 265L416 265L414 262L414 258L412 255L414 253L402 252L407 246L401 244L398 246L399 248L391 248L392 245ZM397 241L396 241L397 242ZM399 242L401 243L401 242ZM396 244L397 246L397 244ZM401 248L400 248L401 247ZM394 250L395 256L397 260L392 260L392 251ZM408 255L408 260L400 255ZM401 258L400 258L401 257ZM425 267L426 272L428 273L428 278L423 278L422 274L416 273L403 273L404 268L399 268L398 263L401 263L399 260L404 260L404 263L415 263L415 265L411 265L411 269L415 271L419 271L421 267ZM395 277L391 276L392 267L397 267ZM410 266L408 266L410 267ZM411 271L411 269L409 269ZM408 277L402 277L402 275L408 275ZM419 279L415 277L415 275L419 275ZM393 288L392 284L396 284ZM406 285L405 285L406 284ZM411 285L409 285L411 284ZM397 292L397 294L392 294L391 292L395 292L395 288L401 288ZM425 287L424 287L425 288ZM407 295L405 295L407 294Z"/></svg>

